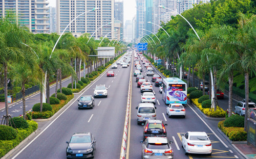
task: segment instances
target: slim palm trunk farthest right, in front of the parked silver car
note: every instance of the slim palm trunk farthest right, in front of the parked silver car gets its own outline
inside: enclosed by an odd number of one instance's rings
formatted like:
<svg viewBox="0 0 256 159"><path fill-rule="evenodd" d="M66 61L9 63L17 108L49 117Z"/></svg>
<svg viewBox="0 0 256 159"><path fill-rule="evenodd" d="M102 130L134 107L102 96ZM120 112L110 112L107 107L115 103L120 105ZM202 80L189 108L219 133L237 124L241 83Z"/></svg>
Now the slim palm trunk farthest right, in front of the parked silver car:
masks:
<svg viewBox="0 0 256 159"><path fill-rule="evenodd" d="M248 118L248 102L249 102L249 73L244 74L244 89L245 89L245 114L244 114L244 131L247 131Z"/></svg>

